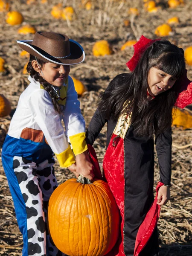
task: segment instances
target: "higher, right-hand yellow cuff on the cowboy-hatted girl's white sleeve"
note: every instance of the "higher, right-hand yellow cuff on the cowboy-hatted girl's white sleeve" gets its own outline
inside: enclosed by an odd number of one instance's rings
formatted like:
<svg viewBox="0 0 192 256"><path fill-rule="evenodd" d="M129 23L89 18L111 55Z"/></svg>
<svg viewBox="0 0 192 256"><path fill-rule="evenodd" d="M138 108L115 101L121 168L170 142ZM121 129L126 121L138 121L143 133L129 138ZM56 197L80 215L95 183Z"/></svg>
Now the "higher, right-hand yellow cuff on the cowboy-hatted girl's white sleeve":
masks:
<svg viewBox="0 0 192 256"><path fill-rule="evenodd" d="M85 132L72 135L69 137L69 139L75 155L81 154L88 149L85 141Z"/></svg>

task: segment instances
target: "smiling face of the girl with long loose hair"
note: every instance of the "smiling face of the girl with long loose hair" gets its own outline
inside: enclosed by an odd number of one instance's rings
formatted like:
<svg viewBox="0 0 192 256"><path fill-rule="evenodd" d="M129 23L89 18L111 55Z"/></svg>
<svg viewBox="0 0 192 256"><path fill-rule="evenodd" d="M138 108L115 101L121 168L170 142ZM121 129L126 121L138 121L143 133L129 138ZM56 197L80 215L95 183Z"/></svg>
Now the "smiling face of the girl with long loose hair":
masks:
<svg viewBox="0 0 192 256"><path fill-rule="evenodd" d="M155 67L151 67L148 73L148 93L151 96L157 96L166 90L169 90L175 84L175 79L173 76L159 70Z"/></svg>

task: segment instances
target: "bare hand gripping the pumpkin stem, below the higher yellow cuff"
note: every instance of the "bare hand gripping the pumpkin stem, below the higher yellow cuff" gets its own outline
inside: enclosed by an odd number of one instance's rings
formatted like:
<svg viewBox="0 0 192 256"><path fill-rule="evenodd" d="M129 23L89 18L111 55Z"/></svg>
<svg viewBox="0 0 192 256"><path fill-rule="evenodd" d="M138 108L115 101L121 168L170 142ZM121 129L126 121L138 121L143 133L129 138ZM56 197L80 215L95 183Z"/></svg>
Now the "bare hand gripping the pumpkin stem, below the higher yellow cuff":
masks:
<svg viewBox="0 0 192 256"><path fill-rule="evenodd" d="M76 176L82 175L89 180L93 180L93 164L90 162L88 151L76 155L76 165Z"/></svg>

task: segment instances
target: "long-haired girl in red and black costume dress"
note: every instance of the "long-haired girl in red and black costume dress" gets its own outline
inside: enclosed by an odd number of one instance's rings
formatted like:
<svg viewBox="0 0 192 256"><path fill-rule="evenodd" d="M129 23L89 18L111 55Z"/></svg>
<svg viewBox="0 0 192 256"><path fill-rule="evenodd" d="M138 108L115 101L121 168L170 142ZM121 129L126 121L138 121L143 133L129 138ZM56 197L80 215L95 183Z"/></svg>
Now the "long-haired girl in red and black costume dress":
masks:
<svg viewBox="0 0 192 256"><path fill-rule="evenodd" d="M119 241L107 256L157 256L157 219L170 198L172 109L192 103L183 49L142 36L127 63L101 97L87 129L93 145L107 122L103 175L120 210ZM155 138L155 141L154 141ZM154 142L160 182L154 200Z"/></svg>

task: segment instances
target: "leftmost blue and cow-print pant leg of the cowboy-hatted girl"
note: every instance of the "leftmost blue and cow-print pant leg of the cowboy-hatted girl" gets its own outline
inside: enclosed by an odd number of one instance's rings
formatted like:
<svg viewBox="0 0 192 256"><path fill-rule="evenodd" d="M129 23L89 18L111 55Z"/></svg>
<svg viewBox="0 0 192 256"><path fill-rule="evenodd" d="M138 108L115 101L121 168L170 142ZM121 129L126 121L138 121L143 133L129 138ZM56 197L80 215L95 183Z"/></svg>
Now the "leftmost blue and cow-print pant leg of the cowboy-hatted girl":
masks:
<svg viewBox="0 0 192 256"><path fill-rule="evenodd" d="M36 176L36 163L18 156L13 157L9 164L4 160L3 166L12 191L17 222L23 233L23 256L46 256L43 198Z"/></svg>

